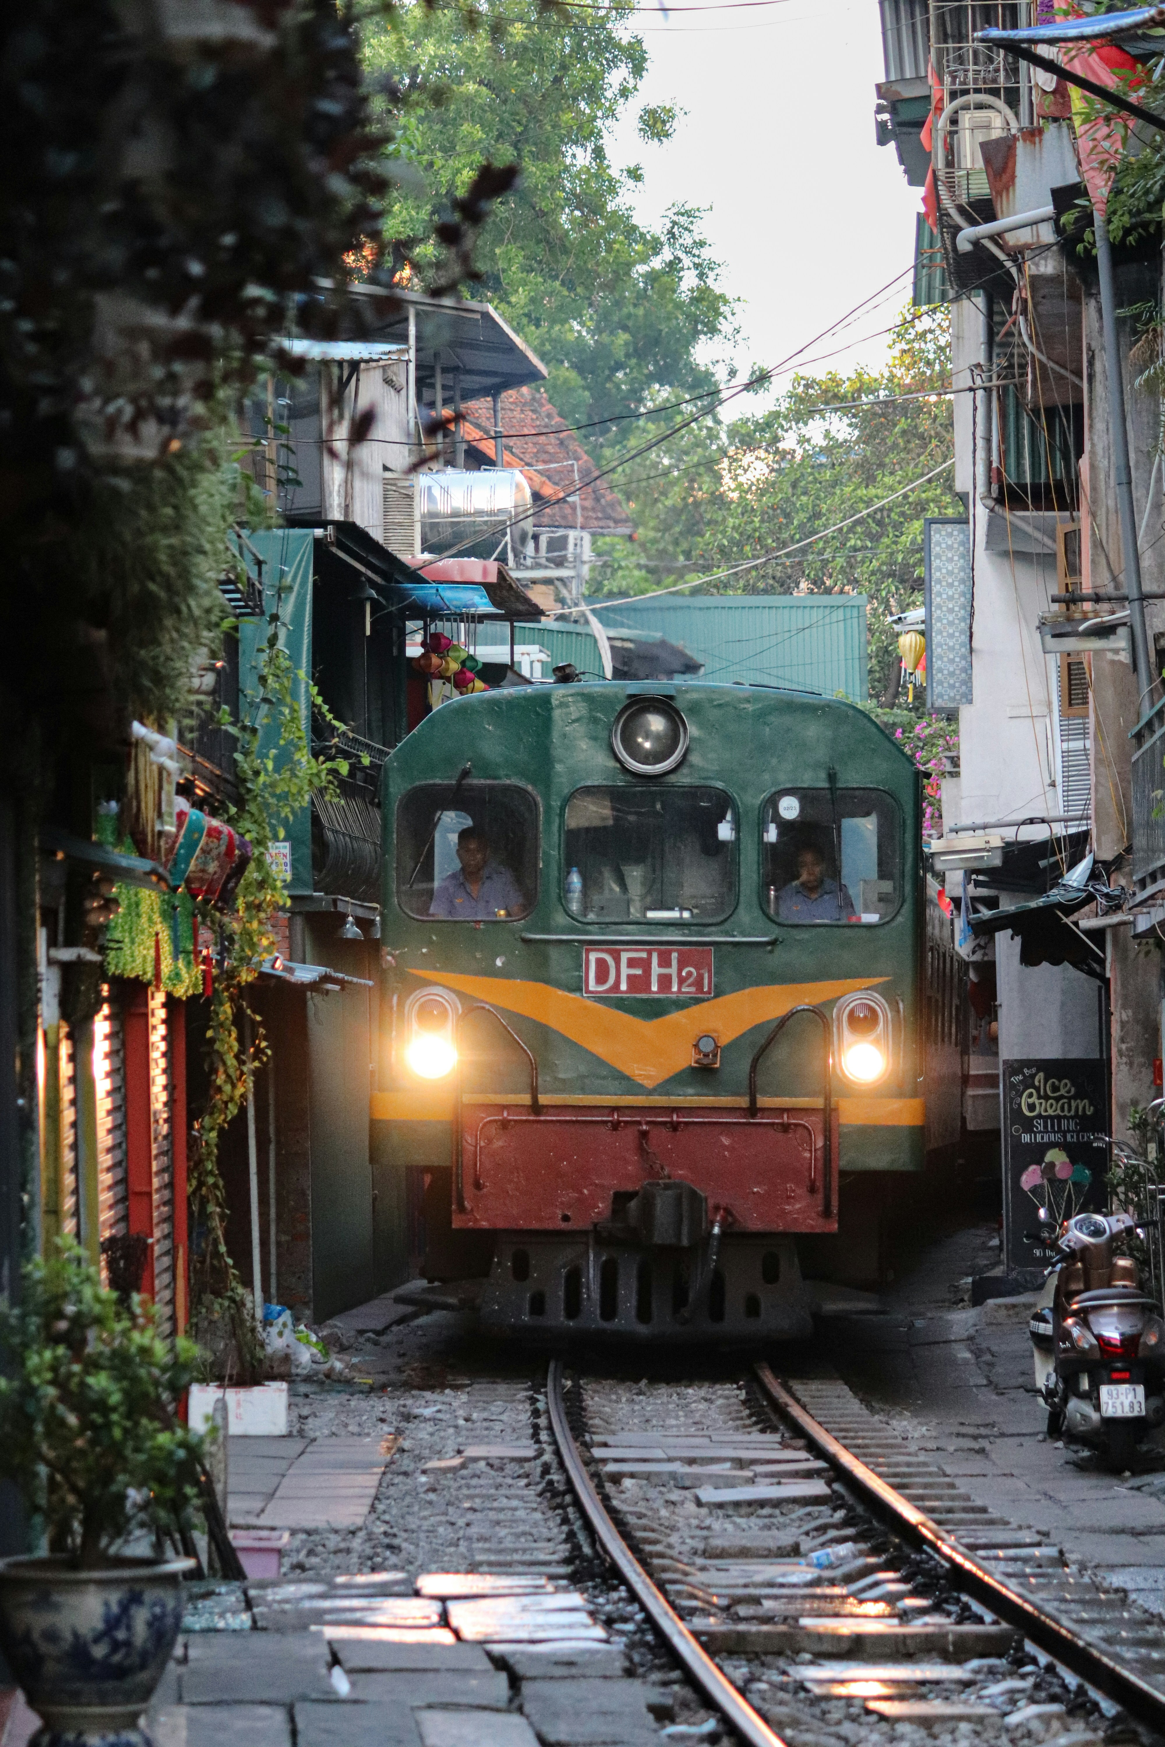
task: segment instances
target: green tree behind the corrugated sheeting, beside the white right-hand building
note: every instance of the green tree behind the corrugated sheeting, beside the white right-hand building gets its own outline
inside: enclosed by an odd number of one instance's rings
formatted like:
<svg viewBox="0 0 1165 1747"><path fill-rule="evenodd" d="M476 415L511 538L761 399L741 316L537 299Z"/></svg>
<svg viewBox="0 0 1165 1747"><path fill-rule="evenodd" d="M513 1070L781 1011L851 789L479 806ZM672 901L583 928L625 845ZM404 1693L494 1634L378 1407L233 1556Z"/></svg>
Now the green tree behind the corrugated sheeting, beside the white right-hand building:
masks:
<svg viewBox="0 0 1165 1747"><path fill-rule="evenodd" d="M699 575L749 563L704 592L866 594L870 688L891 694L889 617L920 603L922 517L957 515L961 503L943 472L861 512L950 459L952 402L926 395L948 386L947 309L906 309L882 370L796 376L765 412L727 428L714 416L690 426L629 466L622 489L636 505L639 543L611 549L604 592L665 587L665 568ZM908 395L922 398L896 398ZM858 515L798 552L767 557Z"/></svg>

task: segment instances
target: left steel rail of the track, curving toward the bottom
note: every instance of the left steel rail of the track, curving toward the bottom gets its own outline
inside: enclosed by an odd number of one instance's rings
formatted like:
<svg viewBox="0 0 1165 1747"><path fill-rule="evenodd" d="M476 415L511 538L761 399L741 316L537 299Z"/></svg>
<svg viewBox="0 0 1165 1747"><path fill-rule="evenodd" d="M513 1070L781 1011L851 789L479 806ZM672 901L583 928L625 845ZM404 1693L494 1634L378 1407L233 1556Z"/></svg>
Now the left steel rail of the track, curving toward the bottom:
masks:
<svg viewBox="0 0 1165 1747"><path fill-rule="evenodd" d="M749 1747L786 1747L786 1742L769 1728L758 1710L753 1710L748 1698L735 1689L704 1646L688 1632L679 1614L665 1595L651 1583L646 1571L631 1551L618 1529L606 1513L596 1490L594 1480L587 1473L587 1464L575 1443L575 1434L566 1424L566 1405L562 1401L562 1361L552 1359L547 1368L547 1406L550 1410L550 1429L559 1447L559 1457L566 1469L566 1478L578 1499L578 1506L587 1518L590 1530L618 1571L620 1578L632 1592L645 1614L664 1639L672 1656L681 1663L685 1674L699 1686L725 1723L732 1724L741 1740Z"/></svg>

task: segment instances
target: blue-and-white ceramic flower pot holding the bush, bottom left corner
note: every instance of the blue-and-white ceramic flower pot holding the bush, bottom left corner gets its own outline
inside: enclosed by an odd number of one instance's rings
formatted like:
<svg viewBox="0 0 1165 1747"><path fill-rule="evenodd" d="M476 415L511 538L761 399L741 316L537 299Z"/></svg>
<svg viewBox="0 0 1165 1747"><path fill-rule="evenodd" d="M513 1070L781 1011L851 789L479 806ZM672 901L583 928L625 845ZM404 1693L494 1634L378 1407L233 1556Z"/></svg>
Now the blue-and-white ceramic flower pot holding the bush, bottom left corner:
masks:
<svg viewBox="0 0 1165 1747"><path fill-rule="evenodd" d="M0 1560L0 1647L44 1719L30 1747L150 1747L141 1712L182 1626L194 1560Z"/></svg>

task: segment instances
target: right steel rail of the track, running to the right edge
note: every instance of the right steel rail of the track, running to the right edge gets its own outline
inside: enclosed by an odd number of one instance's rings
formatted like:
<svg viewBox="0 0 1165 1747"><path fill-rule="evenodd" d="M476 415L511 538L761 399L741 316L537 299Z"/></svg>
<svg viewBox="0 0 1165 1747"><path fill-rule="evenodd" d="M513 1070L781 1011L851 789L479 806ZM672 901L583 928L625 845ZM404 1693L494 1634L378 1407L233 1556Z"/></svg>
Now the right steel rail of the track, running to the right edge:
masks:
<svg viewBox="0 0 1165 1747"><path fill-rule="evenodd" d="M833 1433L826 1431L763 1361L755 1366L755 1373L777 1413L796 1427L879 1516L889 1520L891 1527L908 1541L934 1553L955 1574L961 1590L989 1607L999 1619L1017 1626L1032 1644L1037 1644L1088 1686L1123 1705L1130 1716L1158 1731L1165 1730L1165 1691L1149 1686L1139 1674L1116 1661L1102 1646L1081 1637L1072 1626L1044 1614L1025 1595L1010 1588L971 1558L964 1548L943 1534L926 1511L905 1499L889 1481L852 1455Z"/></svg>

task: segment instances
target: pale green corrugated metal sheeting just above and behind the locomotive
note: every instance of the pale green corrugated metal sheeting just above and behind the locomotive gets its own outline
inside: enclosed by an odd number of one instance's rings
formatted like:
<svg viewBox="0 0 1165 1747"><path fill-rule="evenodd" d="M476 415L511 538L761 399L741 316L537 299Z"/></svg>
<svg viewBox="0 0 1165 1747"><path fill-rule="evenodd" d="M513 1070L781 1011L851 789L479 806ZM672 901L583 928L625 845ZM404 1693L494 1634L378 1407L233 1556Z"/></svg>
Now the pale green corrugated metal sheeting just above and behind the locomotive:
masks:
<svg viewBox="0 0 1165 1747"><path fill-rule="evenodd" d="M608 631L650 631L688 650L704 662L702 680L868 695L865 594L707 594L590 604ZM573 655L562 659L582 671Z"/></svg>

